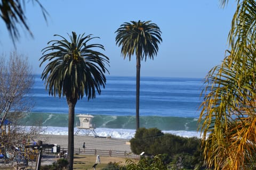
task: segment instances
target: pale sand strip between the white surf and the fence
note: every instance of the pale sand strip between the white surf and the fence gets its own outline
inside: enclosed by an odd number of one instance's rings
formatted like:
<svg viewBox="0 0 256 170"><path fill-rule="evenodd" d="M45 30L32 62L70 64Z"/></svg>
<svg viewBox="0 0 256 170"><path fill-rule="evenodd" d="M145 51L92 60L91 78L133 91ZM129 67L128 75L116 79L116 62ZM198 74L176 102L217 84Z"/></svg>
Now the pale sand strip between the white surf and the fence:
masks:
<svg viewBox="0 0 256 170"><path fill-rule="evenodd" d="M57 144L61 148L68 148L68 135L40 135L34 140L41 140L43 144ZM75 148L83 148L84 142L86 149L131 151L128 139L91 137L87 135L74 136Z"/></svg>

